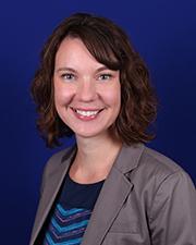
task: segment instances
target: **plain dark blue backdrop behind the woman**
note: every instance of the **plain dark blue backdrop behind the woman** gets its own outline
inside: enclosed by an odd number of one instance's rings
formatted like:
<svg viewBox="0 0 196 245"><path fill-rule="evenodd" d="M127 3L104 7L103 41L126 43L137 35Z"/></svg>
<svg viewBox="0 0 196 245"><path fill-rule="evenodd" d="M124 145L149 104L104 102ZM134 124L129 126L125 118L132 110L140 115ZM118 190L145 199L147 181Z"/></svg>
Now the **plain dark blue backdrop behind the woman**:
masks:
<svg viewBox="0 0 196 245"><path fill-rule="evenodd" d="M132 37L151 71L160 99L151 147L196 180L196 1L1 1L0 244L28 243L46 149L35 128L29 84L53 27L73 12L108 16Z"/></svg>

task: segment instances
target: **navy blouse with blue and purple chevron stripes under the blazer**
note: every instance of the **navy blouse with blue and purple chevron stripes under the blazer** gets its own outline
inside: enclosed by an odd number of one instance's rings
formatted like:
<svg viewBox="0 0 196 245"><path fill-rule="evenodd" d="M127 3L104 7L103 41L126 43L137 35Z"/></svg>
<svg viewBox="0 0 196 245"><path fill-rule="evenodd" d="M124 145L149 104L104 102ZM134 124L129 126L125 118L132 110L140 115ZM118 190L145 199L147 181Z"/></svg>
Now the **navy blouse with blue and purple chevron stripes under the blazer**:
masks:
<svg viewBox="0 0 196 245"><path fill-rule="evenodd" d="M78 184L68 175L44 232L44 245L79 245L103 181Z"/></svg>

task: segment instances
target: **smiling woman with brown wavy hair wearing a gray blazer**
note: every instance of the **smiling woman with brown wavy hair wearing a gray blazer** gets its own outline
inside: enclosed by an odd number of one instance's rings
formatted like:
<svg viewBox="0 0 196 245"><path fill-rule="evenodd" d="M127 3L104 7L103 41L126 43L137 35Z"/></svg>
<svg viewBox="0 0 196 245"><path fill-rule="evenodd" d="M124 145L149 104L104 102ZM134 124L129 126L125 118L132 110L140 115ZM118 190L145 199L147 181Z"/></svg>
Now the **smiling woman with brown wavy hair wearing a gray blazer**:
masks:
<svg viewBox="0 0 196 245"><path fill-rule="evenodd" d="M30 245L196 244L196 193L147 148L156 117L148 71L111 21L74 14L48 39L32 87L48 146Z"/></svg>

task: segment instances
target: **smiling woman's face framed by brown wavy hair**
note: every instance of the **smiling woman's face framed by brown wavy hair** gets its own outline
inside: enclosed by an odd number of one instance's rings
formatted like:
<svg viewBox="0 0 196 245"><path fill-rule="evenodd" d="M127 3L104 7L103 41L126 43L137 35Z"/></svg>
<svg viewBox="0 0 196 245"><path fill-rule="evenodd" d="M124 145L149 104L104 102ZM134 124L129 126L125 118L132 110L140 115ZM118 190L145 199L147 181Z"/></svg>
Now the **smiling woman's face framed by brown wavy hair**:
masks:
<svg viewBox="0 0 196 245"><path fill-rule="evenodd" d="M54 64L54 103L76 137L108 135L121 107L120 72L97 62L78 38L66 37Z"/></svg>

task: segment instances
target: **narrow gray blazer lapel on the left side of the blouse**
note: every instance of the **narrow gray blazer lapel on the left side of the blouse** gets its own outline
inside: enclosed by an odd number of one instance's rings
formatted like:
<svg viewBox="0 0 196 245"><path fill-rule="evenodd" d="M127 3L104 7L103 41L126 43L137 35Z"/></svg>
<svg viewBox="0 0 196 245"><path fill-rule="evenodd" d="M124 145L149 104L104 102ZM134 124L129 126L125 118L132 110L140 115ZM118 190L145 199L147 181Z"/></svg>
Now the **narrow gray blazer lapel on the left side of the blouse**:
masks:
<svg viewBox="0 0 196 245"><path fill-rule="evenodd" d="M39 207L36 213L29 245L33 245L35 243L44 225L44 222L53 205L57 194L69 170L74 154L75 150L72 148L68 152L61 151L61 154L57 158L52 159L52 161L57 163L58 168L50 174L50 177L47 177L47 183L44 183L46 184L46 187L44 188L44 193L39 200Z"/></svg>

